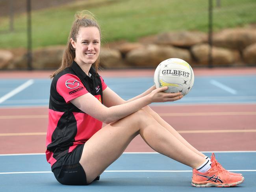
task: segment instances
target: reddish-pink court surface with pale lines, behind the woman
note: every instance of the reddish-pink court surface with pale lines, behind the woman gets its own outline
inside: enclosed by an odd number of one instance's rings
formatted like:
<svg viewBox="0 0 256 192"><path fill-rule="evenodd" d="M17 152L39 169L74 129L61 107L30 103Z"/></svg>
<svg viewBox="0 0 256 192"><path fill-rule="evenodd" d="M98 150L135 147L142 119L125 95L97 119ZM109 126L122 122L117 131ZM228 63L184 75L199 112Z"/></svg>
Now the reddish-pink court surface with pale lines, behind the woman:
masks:
<svg viewBox="0 0 256 192"><path fill-rule="evenodd" d="M256 67L195 68L195 76L255 75ZM1 71L0 78L48 78L52 71ZM103 77L153 76L154 70L106 70ZM152 105L160 116L200 151L256 150L256 104ZM47 107L0 108L0 154L44 153ZM137 136L126 152L152 150Z"/></svg>

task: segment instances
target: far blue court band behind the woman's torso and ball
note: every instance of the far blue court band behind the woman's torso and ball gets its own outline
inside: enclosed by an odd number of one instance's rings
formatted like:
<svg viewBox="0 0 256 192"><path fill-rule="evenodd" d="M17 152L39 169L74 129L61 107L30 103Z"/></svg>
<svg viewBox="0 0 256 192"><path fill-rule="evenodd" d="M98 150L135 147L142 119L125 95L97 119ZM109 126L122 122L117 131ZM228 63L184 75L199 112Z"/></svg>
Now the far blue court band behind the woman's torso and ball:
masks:
<svg viewBox="0 0 256 192"><path fill-rule="evenodd" d="M151 77L104 78L104 81L125 100L154 85ZM182 100L153 105L256 103L255 82L254 75L199 76L195 77L191 92ZM1 79L0 107L48 106L50 83L50 79Z"/></svg>

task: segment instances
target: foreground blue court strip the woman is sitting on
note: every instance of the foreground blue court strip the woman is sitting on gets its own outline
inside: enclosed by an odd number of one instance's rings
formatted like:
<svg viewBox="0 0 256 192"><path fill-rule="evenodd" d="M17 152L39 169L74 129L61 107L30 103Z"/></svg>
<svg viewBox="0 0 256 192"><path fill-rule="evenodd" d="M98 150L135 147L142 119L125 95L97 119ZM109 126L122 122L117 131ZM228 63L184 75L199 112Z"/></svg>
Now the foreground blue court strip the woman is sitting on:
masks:
<svg viewBox="0 0 256 192"><path fill-rule="evenodd" d="M205 153L210 156L210 153ZM215 153L227 169L242 173L245 181L231 188L191 186L191 168L159 153L124 153L88 186L61 185L50 172L45 154L0 155L0 188L3 192L162 192L256 191L256 151Z"/></svg>

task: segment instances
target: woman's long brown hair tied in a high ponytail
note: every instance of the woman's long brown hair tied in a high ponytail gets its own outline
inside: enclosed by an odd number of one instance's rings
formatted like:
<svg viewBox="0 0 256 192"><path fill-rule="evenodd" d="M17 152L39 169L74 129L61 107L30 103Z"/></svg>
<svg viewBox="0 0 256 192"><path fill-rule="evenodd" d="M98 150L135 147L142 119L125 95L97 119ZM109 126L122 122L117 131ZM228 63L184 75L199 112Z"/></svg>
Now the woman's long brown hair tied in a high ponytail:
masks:
<svg viewBox="0 0 256 192"><path fill-rule="evenodd" d="M65 48L62 61L61 61L61 66L50 76L50 78L53 78L56 76L59 72L63 71L65 68L70 67L72 65L72 62L74 58L76 57L75 51L76 49L73 48L70 39L72 38L74 41L76 41L76 37L78 35L78 31L80 27L96 27L100 31L100 27L98 25L98 22L96 21L93 13L90 11L80 11L75 14L76 20L74 20L70 33L69 33L69 38L67 41L67 46ZM101 36L101 33L100 33ZM97 72L98 67L99 67L100 60L99 58L96 59L95 61L95 70Z"/></svg>

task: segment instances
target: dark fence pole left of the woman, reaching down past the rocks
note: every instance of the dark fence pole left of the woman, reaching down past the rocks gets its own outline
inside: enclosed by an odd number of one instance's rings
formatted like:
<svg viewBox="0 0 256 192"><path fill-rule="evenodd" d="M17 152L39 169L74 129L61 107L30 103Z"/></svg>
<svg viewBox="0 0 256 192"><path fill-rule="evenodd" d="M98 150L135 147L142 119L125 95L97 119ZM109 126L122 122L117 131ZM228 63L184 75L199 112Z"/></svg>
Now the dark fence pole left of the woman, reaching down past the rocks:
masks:
<svg viewBox="0 0 256 192"><path fill-rule="evenodd" d="M28 70L32 70L31 0L27 0Z"/></svg>

